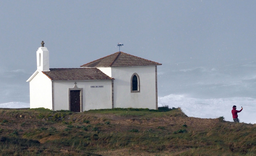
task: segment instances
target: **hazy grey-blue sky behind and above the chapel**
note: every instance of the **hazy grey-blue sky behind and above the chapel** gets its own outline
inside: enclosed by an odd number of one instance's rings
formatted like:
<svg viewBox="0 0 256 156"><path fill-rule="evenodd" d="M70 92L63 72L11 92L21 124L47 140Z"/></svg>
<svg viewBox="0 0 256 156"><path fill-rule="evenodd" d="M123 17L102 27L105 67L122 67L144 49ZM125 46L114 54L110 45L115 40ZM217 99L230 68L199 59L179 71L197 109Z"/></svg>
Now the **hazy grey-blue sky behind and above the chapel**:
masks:
<svg viewBox="0 0 256 156"><path fill-rule="evenodd" d="M202 97L214 98L223 91L253 97L255 6L253 0L0 1L0 103L29 102L26 80L37 69L42 40L50 68L79 67L118 52L121 42L120 51L163 64L159 96L209 92ZM202 70L208 74L198 74ZM231 80L243 88L233 87L232 95L216 89Z"/></svg>

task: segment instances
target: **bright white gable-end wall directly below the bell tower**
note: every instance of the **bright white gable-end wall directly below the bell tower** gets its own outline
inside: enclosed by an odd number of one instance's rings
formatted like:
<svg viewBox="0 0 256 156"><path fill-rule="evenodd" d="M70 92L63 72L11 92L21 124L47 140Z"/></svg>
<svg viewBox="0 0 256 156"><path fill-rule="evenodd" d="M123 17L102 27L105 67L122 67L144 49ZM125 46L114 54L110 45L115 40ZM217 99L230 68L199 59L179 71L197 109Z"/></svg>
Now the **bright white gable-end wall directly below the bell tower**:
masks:
<svg viewBox="0 0 256 156"><path fill-rule="evenodd" d="M30 108L49 108L52 110L52 82L39 71L29 82Z"/></svg>

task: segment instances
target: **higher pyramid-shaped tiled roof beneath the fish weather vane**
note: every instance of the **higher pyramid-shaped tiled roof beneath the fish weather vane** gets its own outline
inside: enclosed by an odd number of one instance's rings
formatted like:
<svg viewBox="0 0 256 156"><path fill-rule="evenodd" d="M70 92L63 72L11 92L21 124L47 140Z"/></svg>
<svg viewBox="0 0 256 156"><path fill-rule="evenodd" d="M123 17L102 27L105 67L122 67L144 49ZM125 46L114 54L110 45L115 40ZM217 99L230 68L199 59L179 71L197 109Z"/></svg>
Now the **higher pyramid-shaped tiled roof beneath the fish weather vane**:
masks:
<svg viewBox="0 0 256 156"><path fill-rule="evenodd" d="M162 65L154 61L146 60L137 56L117 52L112 55L89 62L80 67L126 67L126 66L150 66Z"/></svg>

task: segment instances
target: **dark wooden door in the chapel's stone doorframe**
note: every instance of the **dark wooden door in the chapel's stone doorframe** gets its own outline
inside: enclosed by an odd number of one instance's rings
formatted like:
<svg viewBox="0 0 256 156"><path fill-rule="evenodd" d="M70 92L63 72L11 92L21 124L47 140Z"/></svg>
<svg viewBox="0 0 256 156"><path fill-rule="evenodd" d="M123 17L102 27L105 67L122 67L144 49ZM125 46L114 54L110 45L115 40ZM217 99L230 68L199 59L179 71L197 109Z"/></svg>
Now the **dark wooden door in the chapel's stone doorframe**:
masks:
<svg viewBox="0 0 256 156"><path fill-rule="evenodd" d="M70 91L70 111L80 112L80 90Z"/></svg>

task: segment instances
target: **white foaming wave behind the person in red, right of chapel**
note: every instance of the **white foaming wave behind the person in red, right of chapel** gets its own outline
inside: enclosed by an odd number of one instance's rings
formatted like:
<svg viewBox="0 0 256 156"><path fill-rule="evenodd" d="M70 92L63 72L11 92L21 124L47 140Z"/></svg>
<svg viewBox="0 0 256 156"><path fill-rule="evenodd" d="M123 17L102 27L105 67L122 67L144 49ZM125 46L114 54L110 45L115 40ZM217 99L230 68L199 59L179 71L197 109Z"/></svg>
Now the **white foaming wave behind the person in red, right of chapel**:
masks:
<svg viewBox="0 0 256 156"><path fill-rule="evenodd" d="M224 117L226 121L233 121L231 110L236 105L240 122L256 123L256 99L250 97L213 98L200 99L191 98L186 95L170 94L158 97L158 106L181 107L182 111L189 117L218 118Z"/></svg>

